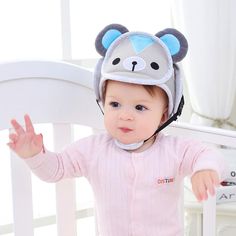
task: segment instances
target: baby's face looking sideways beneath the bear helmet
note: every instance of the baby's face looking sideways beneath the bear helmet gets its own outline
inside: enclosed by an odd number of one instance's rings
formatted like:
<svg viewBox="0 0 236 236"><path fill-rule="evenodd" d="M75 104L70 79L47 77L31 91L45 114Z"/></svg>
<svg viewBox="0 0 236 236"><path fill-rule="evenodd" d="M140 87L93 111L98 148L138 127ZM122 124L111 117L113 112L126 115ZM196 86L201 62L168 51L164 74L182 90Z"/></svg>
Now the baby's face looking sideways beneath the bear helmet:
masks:
<svg viewBox="0 0 236 236"><path fill-rule="evenodd" d="M108 81L104 123L111 136L121 143L149 138L167 118L165 92L156 87L150 95L142 85Z"/></svg>

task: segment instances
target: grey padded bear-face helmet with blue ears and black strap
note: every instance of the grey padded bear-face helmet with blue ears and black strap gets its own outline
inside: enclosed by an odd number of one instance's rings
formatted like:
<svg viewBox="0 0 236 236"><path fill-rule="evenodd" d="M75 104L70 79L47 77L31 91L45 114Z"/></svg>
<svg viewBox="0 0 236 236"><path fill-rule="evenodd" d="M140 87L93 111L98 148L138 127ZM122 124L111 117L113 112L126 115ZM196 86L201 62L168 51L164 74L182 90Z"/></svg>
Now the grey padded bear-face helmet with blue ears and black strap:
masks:
<svg viewBox="0 0 236 236"><path fill-rule="evenodd" d="M122 25L111 24L98 34L95 46L102 56L94 72L98 103L103 100L106 80L156 85L166 92L169 100L169 120L164 127L177 119L183 107L183 84L175 63L188 50L187 40L179 31L168 28L152 35L129 32Z"/></svg>

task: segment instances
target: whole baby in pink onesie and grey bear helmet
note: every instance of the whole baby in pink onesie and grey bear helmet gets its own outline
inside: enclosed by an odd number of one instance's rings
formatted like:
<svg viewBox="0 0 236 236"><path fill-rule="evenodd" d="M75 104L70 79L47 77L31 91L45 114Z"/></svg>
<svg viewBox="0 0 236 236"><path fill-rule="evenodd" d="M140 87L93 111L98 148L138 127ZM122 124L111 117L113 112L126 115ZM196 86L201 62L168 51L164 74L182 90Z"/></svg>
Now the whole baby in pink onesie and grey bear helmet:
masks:
<svg viewBox="0 0 236 236"><path fill-rule="evenodd" d="M224 171L219 154L197 141L160 132L181 114L176 63L187 48L175 29L150 35L109 25L96 39L103 58L94 75L107 132L54 153L44 148L28 115L25 130L11 121L15 133L9 147L41 179L88 179L100 236L183 236L179 206L184 177L191 176L199 201L215 194Z"/></svg>

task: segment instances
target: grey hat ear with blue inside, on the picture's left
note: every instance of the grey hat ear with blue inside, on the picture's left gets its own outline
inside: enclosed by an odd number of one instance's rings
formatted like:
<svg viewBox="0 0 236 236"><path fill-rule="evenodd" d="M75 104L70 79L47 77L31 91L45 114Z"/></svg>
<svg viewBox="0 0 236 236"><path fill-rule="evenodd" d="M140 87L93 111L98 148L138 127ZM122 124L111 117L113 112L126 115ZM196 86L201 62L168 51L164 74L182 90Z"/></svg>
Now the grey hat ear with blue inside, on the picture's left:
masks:
<svg viewBox="0 0 236 236"><path fill-rule="evenodd" d="M120 35L128 32L128 29L123 25L111 24L106 26L97 36L95 47L101 56L105 56L110 45L120 37Z"/></svg>

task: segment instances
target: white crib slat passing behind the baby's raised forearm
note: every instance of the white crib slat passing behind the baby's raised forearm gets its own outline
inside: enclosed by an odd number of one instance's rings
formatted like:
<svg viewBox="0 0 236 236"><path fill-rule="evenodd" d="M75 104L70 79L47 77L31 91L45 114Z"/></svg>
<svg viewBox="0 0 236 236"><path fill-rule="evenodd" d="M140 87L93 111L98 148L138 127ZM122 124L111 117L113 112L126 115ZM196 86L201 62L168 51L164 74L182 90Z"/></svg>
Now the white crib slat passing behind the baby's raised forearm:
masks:
<svg viewBox="0 0 236 236"><path fill-rule="evenodd" d="M71 143L72 129L70 124L54 124L54 148L61 150ZM66 179L56 184L56 209L58 236L76 236L76 192L75 180Z"/></svg>

